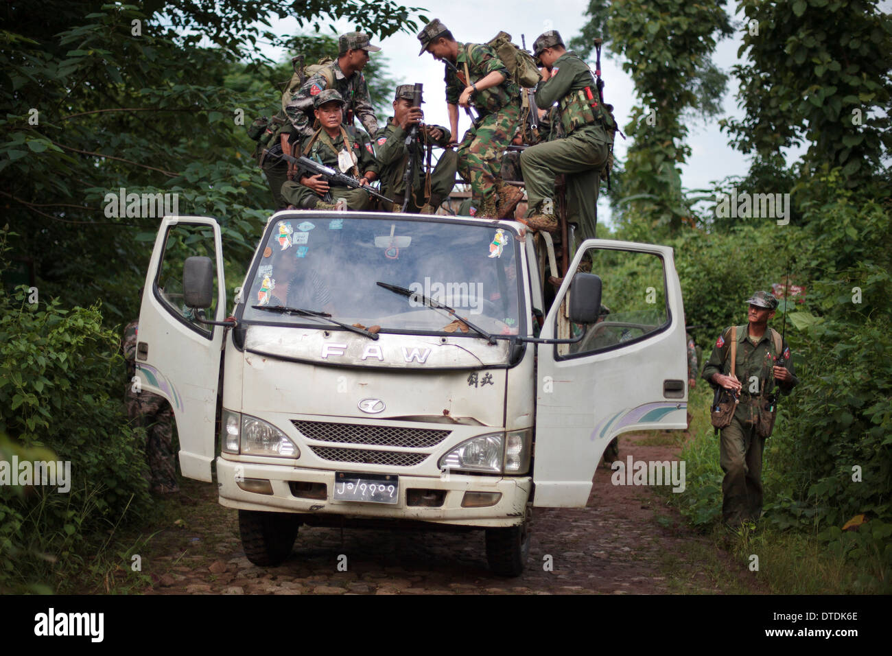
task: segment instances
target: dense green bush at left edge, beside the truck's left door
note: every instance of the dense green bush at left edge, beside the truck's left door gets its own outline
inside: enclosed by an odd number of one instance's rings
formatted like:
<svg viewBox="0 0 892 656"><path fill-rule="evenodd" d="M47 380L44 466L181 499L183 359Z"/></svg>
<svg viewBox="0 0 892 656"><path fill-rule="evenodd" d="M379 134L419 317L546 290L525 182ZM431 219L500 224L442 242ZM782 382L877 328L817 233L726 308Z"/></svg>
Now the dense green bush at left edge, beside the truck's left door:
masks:
<svg viewBox="0 0 892 656"><path fill-rule="evenodd" d="M0 486L0 590L39 592L77 565L91 533L145 511L148 494L144 438L121 403L118 337L99 306L27 297L0 289L0 461L70 461L70 492Z"/></svg>

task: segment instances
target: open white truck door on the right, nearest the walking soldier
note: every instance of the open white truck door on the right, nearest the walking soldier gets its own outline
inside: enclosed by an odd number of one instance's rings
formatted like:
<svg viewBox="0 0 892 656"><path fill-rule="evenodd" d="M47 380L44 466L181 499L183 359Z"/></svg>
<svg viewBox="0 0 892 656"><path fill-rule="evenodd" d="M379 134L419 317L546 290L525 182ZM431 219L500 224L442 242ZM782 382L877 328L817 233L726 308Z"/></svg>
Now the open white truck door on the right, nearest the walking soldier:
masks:
<svg viewBox="0 0 892 656"><path fill-rule="evenodd" d="M597 323L567 319L567 275L538 345L534 505L582 507L601 454L633 430L686 428L687 350L681 286L667 246L590 239L569 271L602 282ZM574 274L575 275L575 274Z"/></svg>

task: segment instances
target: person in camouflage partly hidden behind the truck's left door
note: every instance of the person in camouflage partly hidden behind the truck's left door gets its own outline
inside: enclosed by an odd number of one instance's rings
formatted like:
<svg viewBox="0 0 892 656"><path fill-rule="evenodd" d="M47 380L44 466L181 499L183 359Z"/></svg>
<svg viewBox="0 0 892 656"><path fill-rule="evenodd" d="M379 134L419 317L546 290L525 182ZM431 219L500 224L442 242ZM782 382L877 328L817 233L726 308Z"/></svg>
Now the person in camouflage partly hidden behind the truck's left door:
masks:
<svg viewBox="0 0 892 656"><path fill-rule="evenodd" d="M149 463L149 491L155 494L179 492L172 447L173 411L158 394L134 391L136 376L136 333L138 324L124 328L121 350L127 361L127 414L136 426L145 428L145 458Z"/></svg>

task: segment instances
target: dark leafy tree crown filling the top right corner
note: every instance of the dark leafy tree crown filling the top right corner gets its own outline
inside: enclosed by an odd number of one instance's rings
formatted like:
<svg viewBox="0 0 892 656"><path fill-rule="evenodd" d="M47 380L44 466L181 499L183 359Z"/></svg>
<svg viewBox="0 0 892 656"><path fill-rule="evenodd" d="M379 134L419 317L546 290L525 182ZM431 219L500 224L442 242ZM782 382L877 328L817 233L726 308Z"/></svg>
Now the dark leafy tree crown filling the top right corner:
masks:
<svg viewBox="0 0 892 656"><path fill-rule="evenodd" d="M892 18L878 4L739 0L739 54L748 63L733 71L746 115L723 121L733 145L778 162L780 148L805 139L806 161L842 167L848 187L883 170L892 145Z"/></svg>

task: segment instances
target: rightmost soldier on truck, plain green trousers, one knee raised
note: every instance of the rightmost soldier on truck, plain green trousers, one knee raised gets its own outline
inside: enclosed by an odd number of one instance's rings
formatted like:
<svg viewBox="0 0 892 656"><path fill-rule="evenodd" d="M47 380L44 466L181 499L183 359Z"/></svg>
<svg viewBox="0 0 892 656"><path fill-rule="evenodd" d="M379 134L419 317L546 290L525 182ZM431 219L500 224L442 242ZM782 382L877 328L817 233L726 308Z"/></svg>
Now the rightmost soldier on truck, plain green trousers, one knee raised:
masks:
<svg viewBox="0 0 892 656"><path fill-rule="evenodd" d="M566 50L555 30L533 43L533 54L544 66L536 88L536 104L544 110L558 104L563 137L527 148L520 157L531 228L554 232L555 176L566 176L567 220L580 228L580 237L595 237L600 170L607 163L609 112L599 105L598 88L588 64Z"/></svg>

